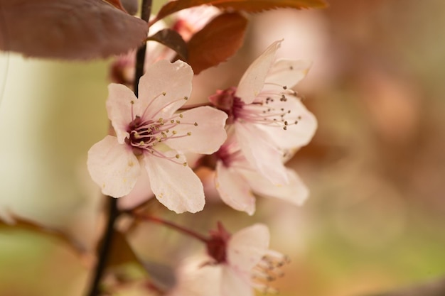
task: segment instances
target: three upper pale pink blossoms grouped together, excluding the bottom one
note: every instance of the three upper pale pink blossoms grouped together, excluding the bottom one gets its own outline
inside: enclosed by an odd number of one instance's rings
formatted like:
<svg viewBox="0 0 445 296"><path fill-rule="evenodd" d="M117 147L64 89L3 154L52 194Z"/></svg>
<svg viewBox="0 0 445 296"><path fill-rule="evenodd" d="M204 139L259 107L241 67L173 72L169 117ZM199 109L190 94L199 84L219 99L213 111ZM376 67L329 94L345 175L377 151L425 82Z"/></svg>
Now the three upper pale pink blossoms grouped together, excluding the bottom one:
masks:
<svg viewBox="0 0 445 296"><path fill-rule="evenodd" d="M308 190L284 161L316 130L313 114L291 90L310 63L274 61L280 43L252 63L238 87L211 96L215 108L178 111L191 94L193 77L180 60L149 65L138 98L124 85L110 84L107 111L116 136L95 144L87 163L102 193L129 194L145 170L146 182L168 209L198 212L203 186L184 153L200 153L211 155L217 190L234 209L253 214L252 191L301 204Z"/></svg>

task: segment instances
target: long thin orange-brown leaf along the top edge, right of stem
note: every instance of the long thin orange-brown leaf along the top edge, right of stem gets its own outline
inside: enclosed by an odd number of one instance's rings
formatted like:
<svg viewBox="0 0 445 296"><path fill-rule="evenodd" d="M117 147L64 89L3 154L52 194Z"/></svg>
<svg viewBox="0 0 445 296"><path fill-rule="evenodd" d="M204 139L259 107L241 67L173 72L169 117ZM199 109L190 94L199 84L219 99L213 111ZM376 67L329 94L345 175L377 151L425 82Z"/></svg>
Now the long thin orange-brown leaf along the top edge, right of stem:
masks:
<svg viewBox="0 0 445 296"><path fill-rule="evenodd" d="M232 9L235 11L247 12L261 12L277 8L319 9L326 7L327 5L324 0L178 0L170 1L164 5L154 21L159 21L161 18L164 18L171 13L175 13L176 11L203 4L213 5L220 9Z"/></svg>

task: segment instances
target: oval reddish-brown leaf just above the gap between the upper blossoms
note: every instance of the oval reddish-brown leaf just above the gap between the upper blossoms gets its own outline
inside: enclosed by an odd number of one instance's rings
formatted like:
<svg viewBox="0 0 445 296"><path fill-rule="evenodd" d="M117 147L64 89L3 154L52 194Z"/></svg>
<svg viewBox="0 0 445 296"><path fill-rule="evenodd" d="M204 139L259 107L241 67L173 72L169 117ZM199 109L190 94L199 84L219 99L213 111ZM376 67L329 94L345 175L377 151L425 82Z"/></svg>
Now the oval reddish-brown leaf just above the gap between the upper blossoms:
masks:
<svg viewBox="0 0 445 296"><path fill-rule="evenodd" d="M199 72L225 62L241 47L247 19L239 13L223 13L213 18L188 41L188 64Z"/></svg>

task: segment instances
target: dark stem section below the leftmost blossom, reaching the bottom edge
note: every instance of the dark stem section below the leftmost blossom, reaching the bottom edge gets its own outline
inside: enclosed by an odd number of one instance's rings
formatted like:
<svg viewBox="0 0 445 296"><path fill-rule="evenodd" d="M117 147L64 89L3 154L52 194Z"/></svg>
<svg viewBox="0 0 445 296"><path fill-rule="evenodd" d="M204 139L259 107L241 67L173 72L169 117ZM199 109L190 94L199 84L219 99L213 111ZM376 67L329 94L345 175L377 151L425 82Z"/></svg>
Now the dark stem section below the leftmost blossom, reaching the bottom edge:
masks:
<svg viewBox="0 0 445 296"><path fill-rule="evenodd" d="M112 247L112 240L114 234L114 222L119 216L119 209L117 209L117 199L114 197L109 198L109 207L108 207L108 219L107 226L104 231L104 236L102 237L102 243L100 244L100 248L97 249L97 265L95 268L94 278L92 280L92 284L90 286L90 292L88 292L88 296L97 296L100 295L100 281L102 280L102 276L107 267L107 261L109 257L109 253Z"/></svg>

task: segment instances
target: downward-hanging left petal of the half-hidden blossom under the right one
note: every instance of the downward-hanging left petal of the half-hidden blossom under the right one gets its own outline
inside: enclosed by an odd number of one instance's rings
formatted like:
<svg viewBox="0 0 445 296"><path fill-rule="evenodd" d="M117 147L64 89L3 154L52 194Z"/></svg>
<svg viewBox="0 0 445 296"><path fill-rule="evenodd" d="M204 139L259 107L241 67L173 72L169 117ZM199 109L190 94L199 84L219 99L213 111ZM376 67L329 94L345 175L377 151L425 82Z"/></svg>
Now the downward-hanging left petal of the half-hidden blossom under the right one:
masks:
<svg viewBox="0 0 445 296"><path fill-rule="evenodd" d="M215 185L225 204L238 211L254 214L255 198L250 185L236 170L226 168L222 161L216 164Z"/></svg>

